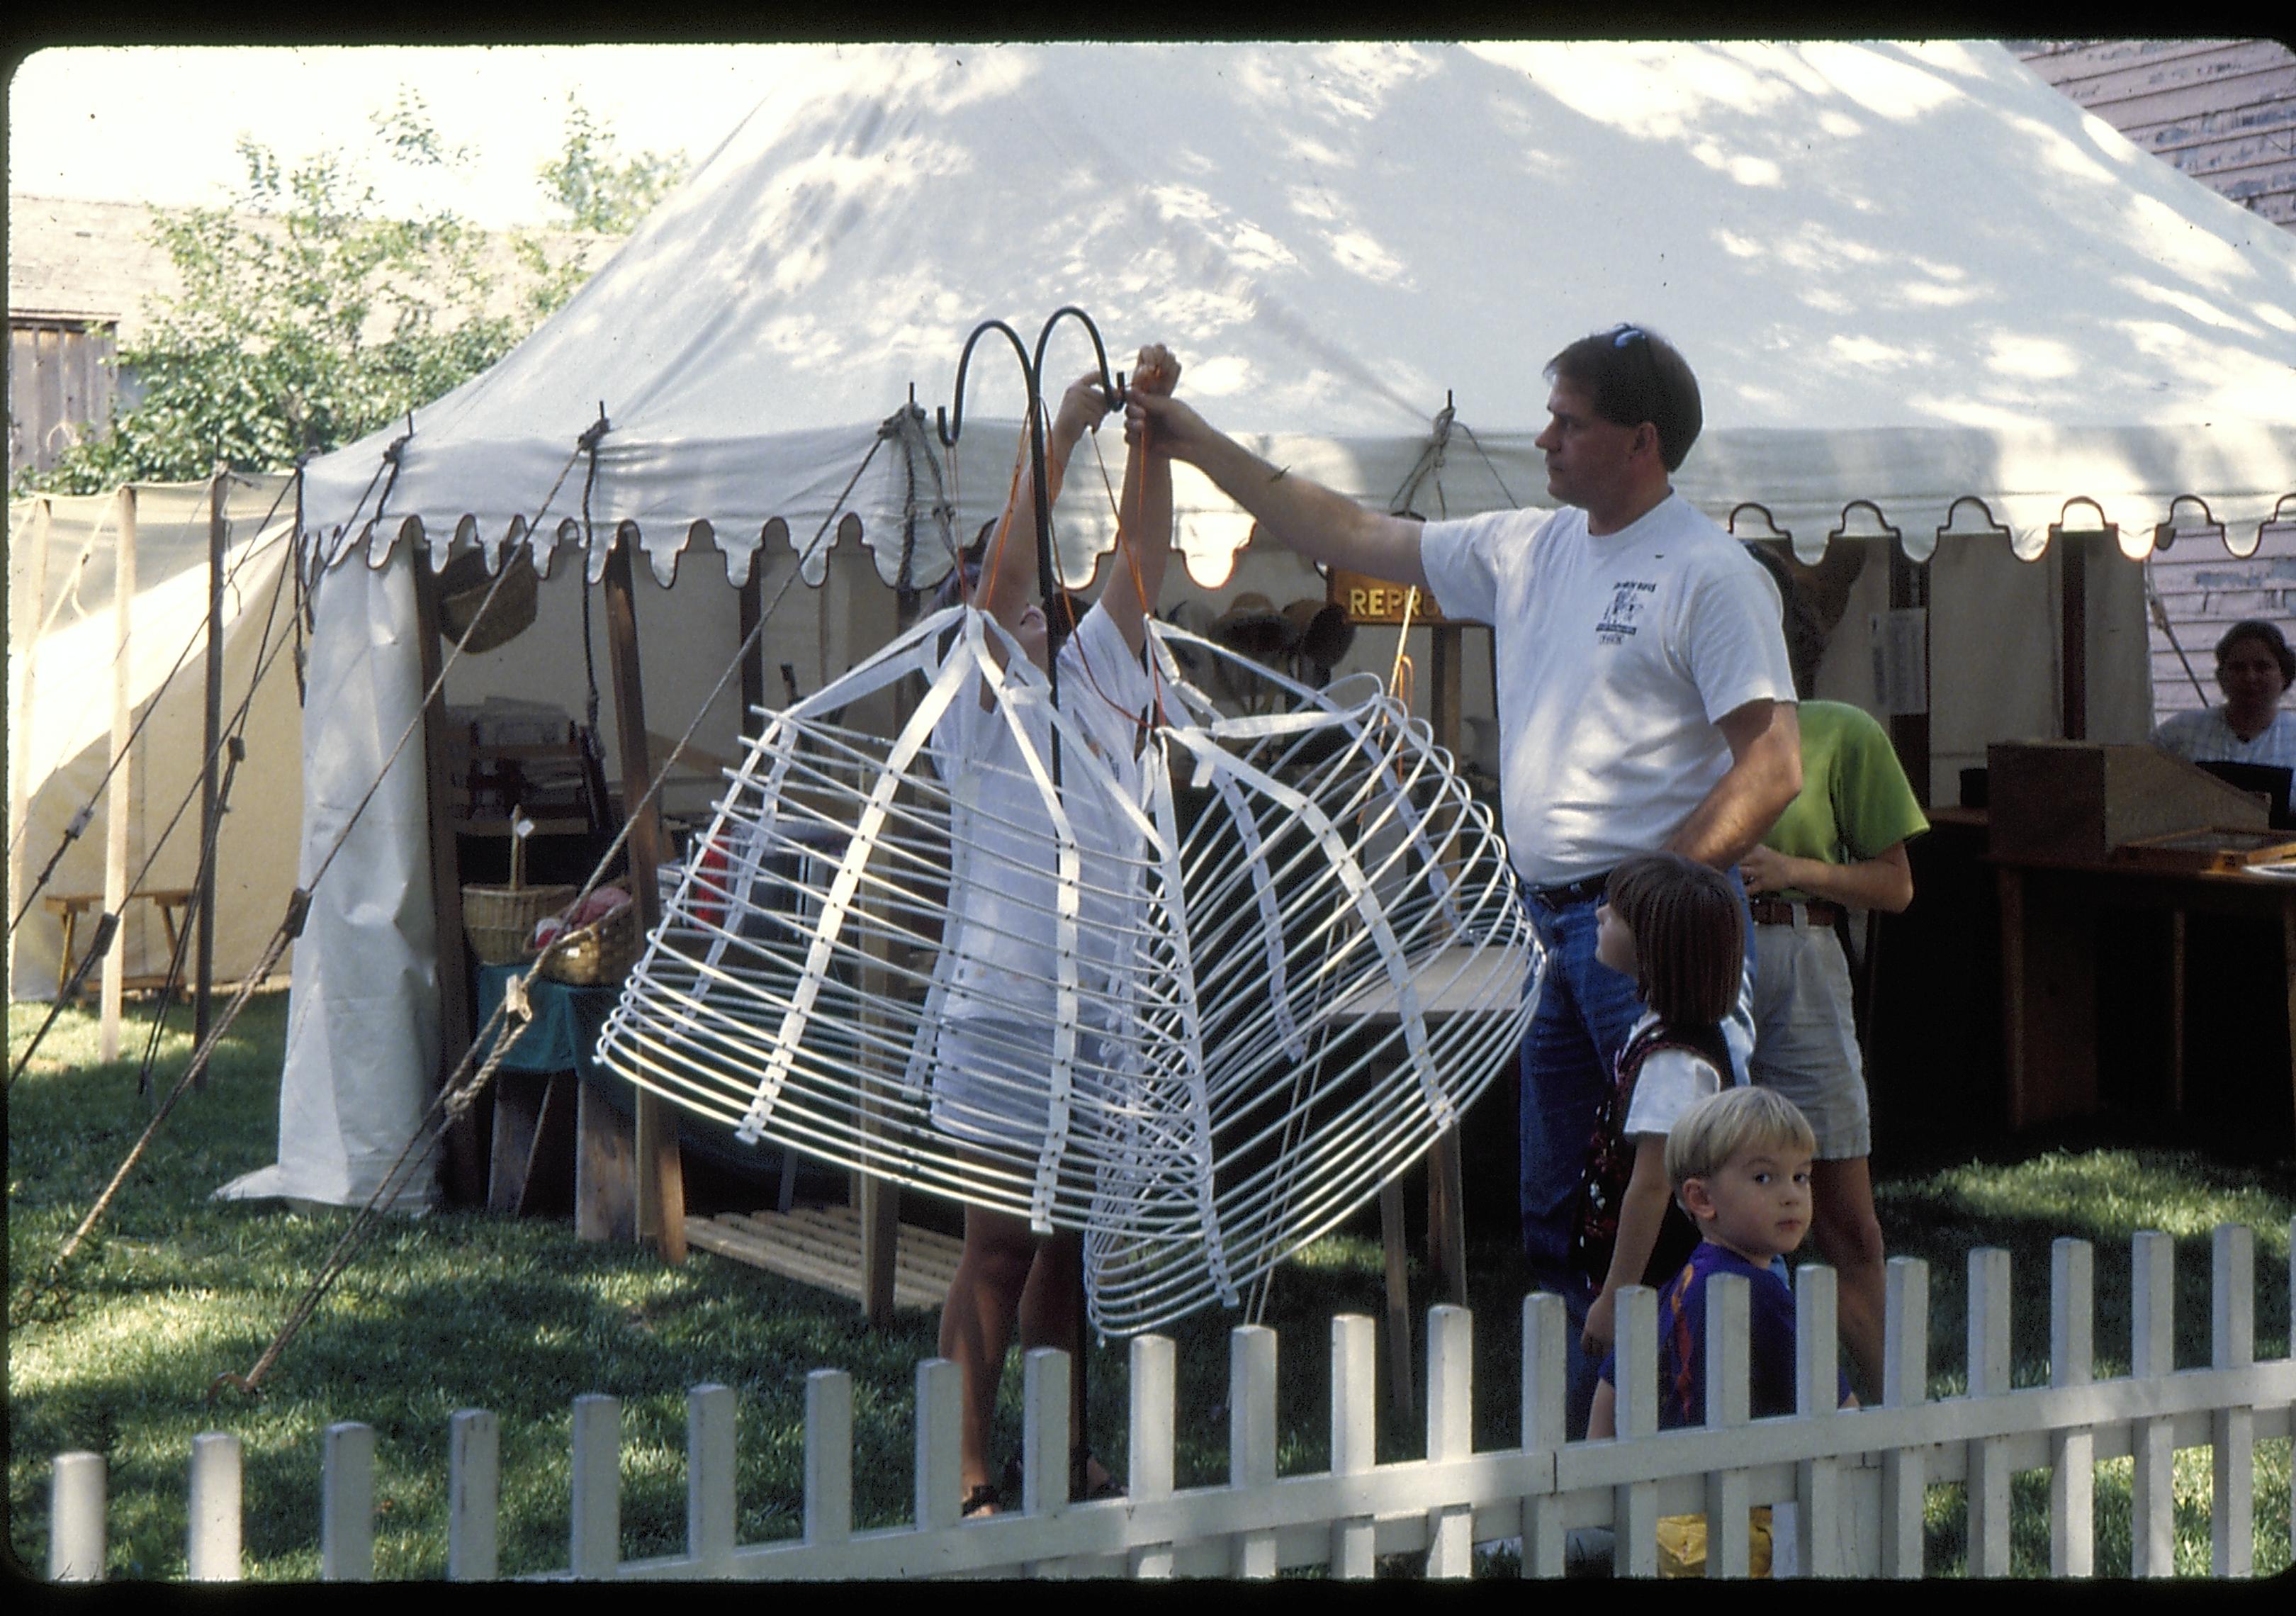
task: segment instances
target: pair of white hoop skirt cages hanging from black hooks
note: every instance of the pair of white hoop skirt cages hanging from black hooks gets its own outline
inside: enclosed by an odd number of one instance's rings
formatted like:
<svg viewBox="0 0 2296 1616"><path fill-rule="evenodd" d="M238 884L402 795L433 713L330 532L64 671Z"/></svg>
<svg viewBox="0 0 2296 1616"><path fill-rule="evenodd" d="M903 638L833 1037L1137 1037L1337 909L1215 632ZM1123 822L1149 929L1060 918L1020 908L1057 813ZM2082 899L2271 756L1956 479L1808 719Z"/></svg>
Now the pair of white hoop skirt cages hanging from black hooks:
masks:
<svg viewBox="0 0 2296 1616"><path fill-rule="evenodd" d="M1228 716L1182 659L1283 709ZM599 1060L742 1139L1081 1230L1104 1334L1235 1306L1458 1120L1543 957L1490 810L1375 679L1313 691L1166 624L1148 670L1137 790L1072 718L1095 689L1063 673L1054 707L964 606L765 714ZM980 682L1017 744L951 764L934 725ZM895 735L843 723L884 693ZM1013 792L1026 836L983 808Z"/></svg>

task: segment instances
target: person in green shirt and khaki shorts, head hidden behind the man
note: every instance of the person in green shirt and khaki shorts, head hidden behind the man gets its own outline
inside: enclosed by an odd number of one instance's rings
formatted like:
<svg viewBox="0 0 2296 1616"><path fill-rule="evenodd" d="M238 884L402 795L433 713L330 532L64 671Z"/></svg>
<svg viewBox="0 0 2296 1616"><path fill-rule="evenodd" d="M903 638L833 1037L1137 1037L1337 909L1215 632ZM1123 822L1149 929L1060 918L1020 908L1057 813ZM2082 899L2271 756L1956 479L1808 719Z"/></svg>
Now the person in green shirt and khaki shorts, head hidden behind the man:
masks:
<svg viewBox="0 0 2296 1616"><path fill-rule="evenodd" d="M1883 1235L1867 1157L1874 1129L1835 925L1846 909L1913 902L1906 842L1929 829L1887 730L1862 707L1802 702L1802 792L1738 861L1754 911L1752 1081L1809 1118L1812 1244L1832 1265L1841 1341L1862 1389L1880 1391Z"/></svg>

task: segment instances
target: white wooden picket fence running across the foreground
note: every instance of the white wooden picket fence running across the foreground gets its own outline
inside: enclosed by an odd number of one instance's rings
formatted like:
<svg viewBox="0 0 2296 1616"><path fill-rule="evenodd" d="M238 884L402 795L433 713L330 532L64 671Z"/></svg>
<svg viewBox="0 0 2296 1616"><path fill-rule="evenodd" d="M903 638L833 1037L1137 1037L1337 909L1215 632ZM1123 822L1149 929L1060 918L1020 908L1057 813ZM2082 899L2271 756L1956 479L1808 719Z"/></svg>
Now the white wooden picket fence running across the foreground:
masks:
<svg viewBox="0 0 2296 1616"><path fill-rule="evenodd" d="M2291 1223L2296 1237L2296 1223ZM2296 1240L2291 1240L2296 1251ZM2213 1451L2211 1570L2245 1577L2255 1540L2255 1444L2291 1435L2296 1361L2255 1361L2255 1233L2213 1235L2211 1357L2174 1366L2174 1249L2131 1242L2131 1373L2096 1380L2092 1246L2057 1240L2050 1256L2046 1386L2009 1386L2011 1274L2007 1251L1968 1258L1968 1393L1929 1400L1929 1267L1894 1258L1887 1279L1880 1407L1835 1409L1835 1276L1795 1276L1800 1361L1795 1414L1747 1419L1747 1292L1715 1281L1708 1423L1655 1430L1655 1292L1621 1292L1619 1439L1564 1442L1564 1308L1522 1302L1522 1446L1474 1451L1472 1336L1465 1308L1428 1315L1426 1458L1373 1455L1373 1324L1332 1320L1332 1467L1277 1476L1277 1338L1242 1327L1228 1352L1228 1481L1173 1487L1173 1343L1132 1341L1130 1497L1068 1504L1068 1357L1031 1352L1024 1373L1024 1499L1019 1513L960 1522L957 1368L916 1368L916 1513L912 1524L854 1531L852 1377L806 1377L804 1536L735 1543L735 1393L696 1386L687 1403L687 1552L620 1561L620 1403L574 1400L572 1547L567 1570L597 1577L1270 1577L1322 1566L1368 1577L1389 1554L1424 1554L1430 1577L1463 1577L1476 1543L1520 1538L1522 1570L1564 1572L1564 1533L1616 1531L1616 1570L1658 1570L1660 1515L1745 1522L1791 1504L1779 1575L1919 1577L1922 1506L1936 1483L1968 1487L1968 1572L2009 1572L2009 1481L2050 1474L2050 1575L2094 1570L2092 1487L2101 1460L2133 1458L2133 1575L2172 1572L2177 1448ZM2296 1269L2296 1258L2291 1258ZM2296 1295L2296 1272L2291 1272ZM2296 1331L2291 1331L2296 1336ZM452 1416L448 1577L498 1575L498 1428L487 1412ZM2291 1464L2296 1471L2296 1464ZM193 1442L186 1572L241 1575L239 1439ZM1045 1485L1047 1481L1056 1485ZM2296 1499L2291 1499L2296 1506ZM2291 1508L2296 1513L2296 1508ZM1745 1575L1745 1531L1711 1531L1711 1575ZM374 1575L374 1432L326 1430L319 1563L326 1579ZM103 1460L55 1460L48 1575L103 1572Z"/></svg>

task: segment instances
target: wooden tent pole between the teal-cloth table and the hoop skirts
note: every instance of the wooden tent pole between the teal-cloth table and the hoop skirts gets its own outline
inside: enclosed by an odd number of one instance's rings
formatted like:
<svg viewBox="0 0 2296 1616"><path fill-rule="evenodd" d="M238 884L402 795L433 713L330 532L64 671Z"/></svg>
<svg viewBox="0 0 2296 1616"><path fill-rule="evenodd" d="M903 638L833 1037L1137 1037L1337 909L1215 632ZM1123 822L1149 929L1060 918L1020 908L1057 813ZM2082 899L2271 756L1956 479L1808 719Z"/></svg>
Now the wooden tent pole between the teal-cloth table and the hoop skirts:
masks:
<svg viewBox="0 0 2296 1616"><path fill-rule="evenodd" d="M668 863L661 840L661 808L645 801L654 769L645 744L645 693L638 682L638 601L631 592L631 551L636 535L622 528L606 551L606 656L613 679L613 723L622 746L622 803L629 819L629 900L638 904L643 932L661 923L661 886L657 870ZM677 1111L652 1090L638 1093L638 1240L650 1242L664 1262L687 1260L687 1180L677 1155Z"/></svg>

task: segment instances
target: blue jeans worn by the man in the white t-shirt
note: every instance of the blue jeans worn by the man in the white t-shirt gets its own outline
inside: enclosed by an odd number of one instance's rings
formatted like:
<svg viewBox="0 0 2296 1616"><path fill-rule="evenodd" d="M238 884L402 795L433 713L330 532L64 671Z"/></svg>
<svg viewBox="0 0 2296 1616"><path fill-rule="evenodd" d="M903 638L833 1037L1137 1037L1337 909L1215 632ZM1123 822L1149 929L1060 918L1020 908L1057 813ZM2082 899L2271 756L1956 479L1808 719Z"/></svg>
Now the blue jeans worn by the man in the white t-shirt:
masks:
<svg viewBox="0 0 2296 1616"><path fill-rule="evenodd" d="M1745 918L1745 973L1738 982L1738 1008L1722 1024L1722 1038L1738 1058L1736 1077L1745 1079L1745 1058L1754 1047L1754 916L1745 909L1745 886L1731 870ZM1538 987L1538 1010L1522 1033L1522 1258L1531 1283L1564 1299L1570 1315L1566 1341L1568 1393L1566 1430L1587 1435L1587 1412L1593 1405L1598 1359L1580 1352L1587 1308L1600 1290L1600 1274L1584 1274L1570 1258L1570 1219L1577 1210L1580 1175L1587 1171L1587 1143L1593 1136L1603 1095L1616 1072L1644 1003L1635 978L1612 971L1593 957L1593 911L1600 898L1548 907L1525 893L1522 907L1531 930L1548 950L1545 980Z"/></svg>

